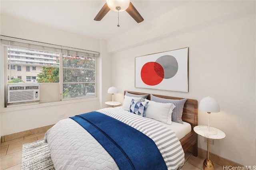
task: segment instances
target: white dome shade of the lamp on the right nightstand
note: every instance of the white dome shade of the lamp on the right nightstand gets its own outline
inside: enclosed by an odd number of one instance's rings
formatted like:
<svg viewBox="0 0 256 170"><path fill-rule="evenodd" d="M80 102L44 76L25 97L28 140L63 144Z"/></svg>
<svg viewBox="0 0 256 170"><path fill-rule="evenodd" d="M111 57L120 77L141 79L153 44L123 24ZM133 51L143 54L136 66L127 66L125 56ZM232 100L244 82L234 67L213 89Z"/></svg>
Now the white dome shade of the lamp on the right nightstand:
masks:
<svg viewBox="0 0 256 170"><path fill-rule="evenodd" d="M208 96L202 98L202 100L199 103L199 109L202 111L217 113L220 112L220 105L214 98Z"/></svg>

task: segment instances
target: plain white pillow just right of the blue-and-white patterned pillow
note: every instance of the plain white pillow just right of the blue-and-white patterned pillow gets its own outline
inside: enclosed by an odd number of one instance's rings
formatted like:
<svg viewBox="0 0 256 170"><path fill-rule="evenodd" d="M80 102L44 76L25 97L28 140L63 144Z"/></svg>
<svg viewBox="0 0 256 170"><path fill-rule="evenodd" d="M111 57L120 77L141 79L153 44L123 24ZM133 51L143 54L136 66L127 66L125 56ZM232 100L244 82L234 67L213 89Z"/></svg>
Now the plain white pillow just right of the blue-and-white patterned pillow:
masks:
<svg viewBox="0 0 256 170"><path fill-rule="evenodd" d="M145 117L149 117L163 123L172 124L172 110L175 108L172 103L158 103L145 99L148 102Z"/></svg>

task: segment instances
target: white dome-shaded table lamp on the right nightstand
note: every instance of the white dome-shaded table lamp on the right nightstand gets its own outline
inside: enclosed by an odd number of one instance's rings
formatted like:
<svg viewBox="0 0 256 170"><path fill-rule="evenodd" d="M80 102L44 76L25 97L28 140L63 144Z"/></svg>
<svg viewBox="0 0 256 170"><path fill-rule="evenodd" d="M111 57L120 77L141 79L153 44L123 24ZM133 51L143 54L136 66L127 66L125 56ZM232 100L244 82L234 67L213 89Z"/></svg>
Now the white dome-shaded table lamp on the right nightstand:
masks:
<svg viewBox="0 0 256 170"><path fill-rule="evenodd" d="M220 112L220 105L218 102L211 97L202 98L199 103L198 109L202 111L206 111L208 113L208 129L204 129L204 133L208 135L216 135L217 131L210 128L210 113L217 113Z"/></svg>

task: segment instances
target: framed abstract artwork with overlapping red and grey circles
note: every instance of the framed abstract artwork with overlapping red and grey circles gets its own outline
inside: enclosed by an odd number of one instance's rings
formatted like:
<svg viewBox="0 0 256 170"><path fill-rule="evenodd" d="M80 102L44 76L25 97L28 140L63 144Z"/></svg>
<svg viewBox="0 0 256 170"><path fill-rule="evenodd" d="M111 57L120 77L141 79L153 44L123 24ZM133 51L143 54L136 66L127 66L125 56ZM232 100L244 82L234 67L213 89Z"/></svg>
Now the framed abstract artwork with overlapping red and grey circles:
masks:
<svg viewBox="0 0 256 170"><path fill-rule="evenodd" d="M135 87L188 92L188 47L135 57Z"/></svg>

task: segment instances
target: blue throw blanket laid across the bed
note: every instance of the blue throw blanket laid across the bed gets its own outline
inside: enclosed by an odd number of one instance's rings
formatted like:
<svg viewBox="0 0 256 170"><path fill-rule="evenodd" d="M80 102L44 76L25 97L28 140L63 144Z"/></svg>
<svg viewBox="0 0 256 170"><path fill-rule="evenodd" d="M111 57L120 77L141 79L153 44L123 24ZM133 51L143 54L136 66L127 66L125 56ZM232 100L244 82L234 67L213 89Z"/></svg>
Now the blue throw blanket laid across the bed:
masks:
<svg viewBox="0 0 256 170"><path fill-rule="evenodd" d="M97 111L70 118L104 147L120 170L167 169L154 141L133 127Z"/></svg>

